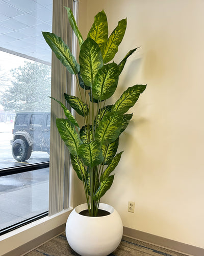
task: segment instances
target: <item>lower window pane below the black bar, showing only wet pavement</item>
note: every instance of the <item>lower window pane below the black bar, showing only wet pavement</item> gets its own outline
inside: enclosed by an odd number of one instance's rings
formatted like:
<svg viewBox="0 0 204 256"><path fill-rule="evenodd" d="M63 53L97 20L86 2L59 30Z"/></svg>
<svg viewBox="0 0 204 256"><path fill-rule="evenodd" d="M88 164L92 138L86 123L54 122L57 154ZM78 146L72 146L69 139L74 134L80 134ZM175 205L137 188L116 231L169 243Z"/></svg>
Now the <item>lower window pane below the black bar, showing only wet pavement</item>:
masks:
<svg viewBox="0 0 204 256"><path fill-rule="evenodd" d="M0 230L48 210L49 168L0 177Z"/></svg>

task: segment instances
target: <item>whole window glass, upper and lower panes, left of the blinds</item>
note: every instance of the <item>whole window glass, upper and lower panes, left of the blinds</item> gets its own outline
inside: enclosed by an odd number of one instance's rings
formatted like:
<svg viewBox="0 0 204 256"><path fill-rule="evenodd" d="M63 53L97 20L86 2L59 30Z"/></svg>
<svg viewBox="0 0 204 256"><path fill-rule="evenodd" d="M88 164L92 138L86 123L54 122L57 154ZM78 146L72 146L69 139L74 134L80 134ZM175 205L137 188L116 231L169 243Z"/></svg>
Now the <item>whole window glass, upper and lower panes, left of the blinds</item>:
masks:
<svg viewBox="0 0 204 256"><path fill-rule="evenodd" d="M0 0L0 174L49 162L52 52L41 31L52 32L52 9L52 0ZM0 233L48 211L48 183L44 166L0 177Z"/></svg>

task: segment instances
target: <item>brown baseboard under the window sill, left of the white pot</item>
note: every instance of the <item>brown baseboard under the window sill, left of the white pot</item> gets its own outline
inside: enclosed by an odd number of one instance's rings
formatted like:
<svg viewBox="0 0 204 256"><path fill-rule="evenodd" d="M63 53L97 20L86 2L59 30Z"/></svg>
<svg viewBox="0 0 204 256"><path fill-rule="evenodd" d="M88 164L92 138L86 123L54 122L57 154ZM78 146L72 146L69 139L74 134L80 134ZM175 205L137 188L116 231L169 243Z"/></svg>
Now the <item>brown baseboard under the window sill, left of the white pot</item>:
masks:
<svg viewBox="0 0 204 256"><path fill-rule="evenodd" d="M32 241L25 243L18 248L3 254L2 256L22 256L24 254L27 254L29 251L39 247L40 245L44 244L45 242L49 241L50 239L53 239L54 237L57 237L59 234L65 231L65 225L66 223L42 234L38 238L33 239Z"/></svg>

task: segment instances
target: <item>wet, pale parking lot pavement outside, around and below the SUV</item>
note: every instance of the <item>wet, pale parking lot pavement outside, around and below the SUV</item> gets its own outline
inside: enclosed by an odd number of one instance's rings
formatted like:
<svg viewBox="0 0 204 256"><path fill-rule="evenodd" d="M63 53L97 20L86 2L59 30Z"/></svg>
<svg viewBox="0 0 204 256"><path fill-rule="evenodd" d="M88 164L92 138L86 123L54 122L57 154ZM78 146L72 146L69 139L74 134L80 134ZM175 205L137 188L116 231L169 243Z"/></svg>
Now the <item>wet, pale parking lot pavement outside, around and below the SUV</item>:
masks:
<svg viewBox="0 0 204 256"><path fill-rule="evenodd" d="M12 123L0 123L0 169L47 162L46 152L32 152L17 162L11 153ZM0 177L0 230L48 210L49 168Z"/></svg>

